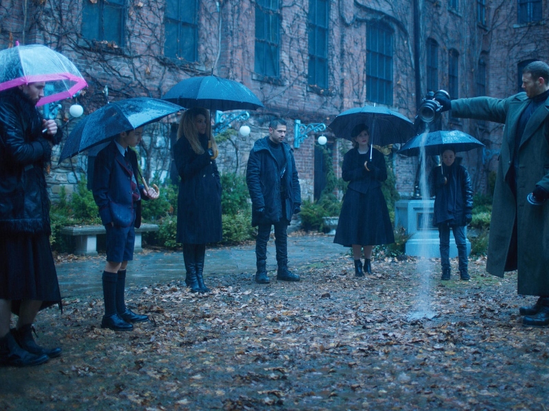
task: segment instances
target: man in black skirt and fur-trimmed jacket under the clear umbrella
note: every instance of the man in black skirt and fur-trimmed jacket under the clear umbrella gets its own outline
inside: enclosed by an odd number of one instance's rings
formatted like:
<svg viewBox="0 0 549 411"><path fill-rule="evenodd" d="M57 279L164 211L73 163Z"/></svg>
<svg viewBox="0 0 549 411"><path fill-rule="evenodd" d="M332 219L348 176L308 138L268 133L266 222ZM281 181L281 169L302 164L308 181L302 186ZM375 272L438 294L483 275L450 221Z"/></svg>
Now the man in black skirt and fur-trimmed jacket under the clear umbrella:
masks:
<svg viewBox="0 0 549 411"><path fill-rule="evenodd" d="M62 133L36 109L44 88L34 82L0 93L0 365L38 365L61 354L32 337L38 311L61 303L45 168ZM19 319L10 330L12 312Z"/></svg>

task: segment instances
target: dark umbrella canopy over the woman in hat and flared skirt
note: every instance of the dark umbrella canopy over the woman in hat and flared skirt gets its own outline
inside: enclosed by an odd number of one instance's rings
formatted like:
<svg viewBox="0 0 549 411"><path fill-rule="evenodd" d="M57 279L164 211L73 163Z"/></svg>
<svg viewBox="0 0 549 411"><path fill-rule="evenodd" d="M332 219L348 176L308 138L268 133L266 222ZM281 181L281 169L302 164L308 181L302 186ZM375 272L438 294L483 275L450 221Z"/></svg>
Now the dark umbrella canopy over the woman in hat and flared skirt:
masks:
<svg viewBox="0 0 549 411"><path fill-rule="evenodd" d="M371 145L406 142L415 135L414 124L405 116L373 105L346 110L338 114L328 127L336 137L351 140L351 131L358 124L368 125Z"/></svg>

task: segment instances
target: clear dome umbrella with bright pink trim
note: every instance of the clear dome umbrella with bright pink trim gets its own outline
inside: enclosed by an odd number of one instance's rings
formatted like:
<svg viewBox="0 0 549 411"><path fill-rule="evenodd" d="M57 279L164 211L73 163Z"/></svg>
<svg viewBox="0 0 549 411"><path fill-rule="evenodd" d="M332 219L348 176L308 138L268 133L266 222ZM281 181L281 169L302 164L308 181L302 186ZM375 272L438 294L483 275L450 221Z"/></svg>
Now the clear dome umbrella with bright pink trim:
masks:
<svg viewBox="0 0 549 411"><path fill-rule="evenodd" d="M76 66L49 47L16 45L0 51L0 91L34 82L46 82L45 96L36 105L70 99L88 86Z"/></svg>

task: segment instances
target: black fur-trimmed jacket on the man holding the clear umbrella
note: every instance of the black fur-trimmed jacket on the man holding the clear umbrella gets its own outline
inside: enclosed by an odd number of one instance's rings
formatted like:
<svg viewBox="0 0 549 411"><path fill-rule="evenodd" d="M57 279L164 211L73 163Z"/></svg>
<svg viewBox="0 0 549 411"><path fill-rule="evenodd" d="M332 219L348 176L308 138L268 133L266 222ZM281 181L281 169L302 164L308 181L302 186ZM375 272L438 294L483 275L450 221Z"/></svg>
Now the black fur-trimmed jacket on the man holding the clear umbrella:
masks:
<svg viewBox="0 0 549 411"><path fill-rule="evenodd" d="M0 233L49 234L42 117L19 88L0 92ZM58 130L54 144L62 137Z"/></svg>

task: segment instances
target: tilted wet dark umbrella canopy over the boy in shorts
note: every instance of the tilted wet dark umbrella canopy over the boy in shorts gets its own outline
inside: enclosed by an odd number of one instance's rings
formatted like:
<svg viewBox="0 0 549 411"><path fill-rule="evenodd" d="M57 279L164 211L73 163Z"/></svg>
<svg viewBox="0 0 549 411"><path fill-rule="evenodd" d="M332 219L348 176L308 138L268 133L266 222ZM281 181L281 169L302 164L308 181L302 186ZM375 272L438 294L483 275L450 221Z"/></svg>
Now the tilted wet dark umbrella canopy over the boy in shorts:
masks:
<svg viewBox="0 0 549 411"><path fill-rule="evenodd" d="M121 132L137 129L182 110L179 105L149 97L113 101L89 114L74 127L61 151L59 162Z"/></svg>

